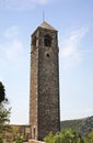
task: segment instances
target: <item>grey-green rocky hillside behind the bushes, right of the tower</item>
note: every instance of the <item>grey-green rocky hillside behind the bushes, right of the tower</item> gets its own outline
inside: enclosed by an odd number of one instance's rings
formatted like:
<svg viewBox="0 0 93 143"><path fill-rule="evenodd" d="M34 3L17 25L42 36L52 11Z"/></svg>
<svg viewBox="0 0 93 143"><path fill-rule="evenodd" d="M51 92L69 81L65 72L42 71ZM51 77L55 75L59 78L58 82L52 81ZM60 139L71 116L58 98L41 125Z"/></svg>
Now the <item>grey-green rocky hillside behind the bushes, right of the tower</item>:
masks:
<svg viewBox="0 0 93 143"><path fill-rule="evenodd" d="M86 135L89 132L93 131L93 117L60 122L61 130L68 128L81 133L82 135Z"/></svg>

